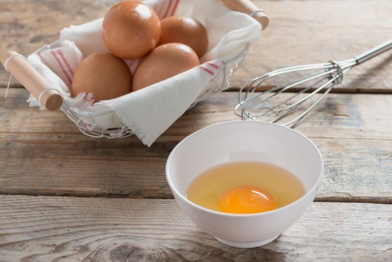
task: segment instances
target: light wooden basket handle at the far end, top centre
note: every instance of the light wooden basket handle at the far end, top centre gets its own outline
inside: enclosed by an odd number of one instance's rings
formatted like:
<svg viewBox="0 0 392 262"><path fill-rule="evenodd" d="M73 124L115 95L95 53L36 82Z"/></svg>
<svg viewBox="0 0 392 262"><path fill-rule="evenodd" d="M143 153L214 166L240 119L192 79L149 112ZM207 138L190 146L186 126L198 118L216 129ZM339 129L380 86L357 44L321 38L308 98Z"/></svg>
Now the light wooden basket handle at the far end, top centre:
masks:
<svg viewBox="0 0 392 262"><path fill-rule="evenodd" d="M228 8L245 13L256 19L257 22L262 26L262 30L266 29L270 23L266 12L263 9L257 7L250 0L221 0L221 2Z"/></svg>

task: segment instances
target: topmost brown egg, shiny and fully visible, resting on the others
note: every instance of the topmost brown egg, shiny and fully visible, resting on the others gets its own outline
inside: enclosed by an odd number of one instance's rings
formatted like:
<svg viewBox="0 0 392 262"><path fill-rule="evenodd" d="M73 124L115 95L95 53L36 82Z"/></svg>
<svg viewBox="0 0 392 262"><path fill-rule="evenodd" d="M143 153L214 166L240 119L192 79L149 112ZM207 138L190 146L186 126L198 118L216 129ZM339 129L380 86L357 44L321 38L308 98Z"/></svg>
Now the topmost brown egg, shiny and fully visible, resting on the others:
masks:
<svg viewBox="0 0 392 262"><path fill-rule="evenodd" d="M155 11L139 1L123 1L110 8L103 19L102 38L114 55L136 59L156 47L161 24Z"/></svg>

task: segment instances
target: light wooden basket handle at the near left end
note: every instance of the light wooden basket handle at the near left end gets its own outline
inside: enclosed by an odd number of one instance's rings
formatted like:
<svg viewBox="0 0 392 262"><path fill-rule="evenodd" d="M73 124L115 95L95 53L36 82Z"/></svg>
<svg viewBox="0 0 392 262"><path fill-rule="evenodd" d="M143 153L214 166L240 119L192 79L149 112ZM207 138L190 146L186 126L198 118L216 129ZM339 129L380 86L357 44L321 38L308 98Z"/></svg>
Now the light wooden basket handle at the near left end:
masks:
<svg viewBox="0 0 392 262"><path fill-rule="evenodd" d="M10 59L6 62L8 58ZM46 109L55 111L63 104L62 96L57 91L50 89L51 86L49 82L17 52L5 52L1 57L1 64L15 79L25 86L38 101L42 94L41 101L39 102L41 105L45 106Z"/></svg>

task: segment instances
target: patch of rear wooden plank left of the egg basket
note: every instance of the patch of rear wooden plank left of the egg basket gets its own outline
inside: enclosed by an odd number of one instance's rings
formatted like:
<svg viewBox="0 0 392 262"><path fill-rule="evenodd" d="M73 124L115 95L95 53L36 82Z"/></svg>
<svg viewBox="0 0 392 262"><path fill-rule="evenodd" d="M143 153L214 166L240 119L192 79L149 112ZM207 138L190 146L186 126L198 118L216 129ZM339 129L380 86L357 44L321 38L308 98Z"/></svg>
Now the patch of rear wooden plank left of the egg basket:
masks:
<svg viewBox="0 0 392 262"><path fill-rule="evenodd" d="M25 56L58 39L61 29L104 16L114 0L0 0L0 53ZM0 86L9 74L0 68ZM13 85L20 86L14 79Z"/></svg>

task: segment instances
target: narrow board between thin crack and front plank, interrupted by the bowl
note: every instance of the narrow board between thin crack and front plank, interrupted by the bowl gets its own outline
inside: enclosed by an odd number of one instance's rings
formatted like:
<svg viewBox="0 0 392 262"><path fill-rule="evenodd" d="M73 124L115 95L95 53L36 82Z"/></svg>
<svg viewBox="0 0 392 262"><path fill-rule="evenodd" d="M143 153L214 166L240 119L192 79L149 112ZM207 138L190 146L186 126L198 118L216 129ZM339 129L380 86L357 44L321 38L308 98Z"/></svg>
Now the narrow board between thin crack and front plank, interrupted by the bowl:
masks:
<svg viewBox="0 0 392 262"><path fill-rule="evenodd" d="M165 164L183 137L147 148L135 137L0 134L0 193L172 198ZM325 161L317 201L392 203L392 140L312 141Z"/></svg>

